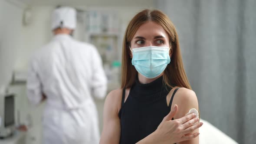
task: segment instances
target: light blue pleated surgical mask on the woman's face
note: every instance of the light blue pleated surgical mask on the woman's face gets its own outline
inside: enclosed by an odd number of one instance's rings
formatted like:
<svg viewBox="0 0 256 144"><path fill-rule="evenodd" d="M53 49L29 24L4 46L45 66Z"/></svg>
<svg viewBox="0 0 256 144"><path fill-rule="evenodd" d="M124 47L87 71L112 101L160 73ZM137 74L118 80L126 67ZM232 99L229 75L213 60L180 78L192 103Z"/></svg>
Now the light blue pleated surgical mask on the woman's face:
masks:
<svg viewBox="0 0 256 144"><path fill-rule="evenodd" d="M130 48L131 49L131 48ZM156 78L170 63L168 47L146 46L132 49L131 64L148 79Z"/></svg>

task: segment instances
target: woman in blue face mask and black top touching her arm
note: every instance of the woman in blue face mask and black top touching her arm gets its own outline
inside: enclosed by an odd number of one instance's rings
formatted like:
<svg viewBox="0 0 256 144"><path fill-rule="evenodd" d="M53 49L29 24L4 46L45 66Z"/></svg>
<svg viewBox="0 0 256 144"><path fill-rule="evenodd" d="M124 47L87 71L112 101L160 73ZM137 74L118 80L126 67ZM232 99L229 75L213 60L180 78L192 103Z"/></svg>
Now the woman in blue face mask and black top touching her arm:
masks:
<svg viewBox="0 0 256 144"><path fill-rule="evenodd" d="M143 10L131 20L123 42L121 88L105 100L101 144L199 143L203 123L186 115L198 110L198 101L180 51L164 13Z"/></svg>

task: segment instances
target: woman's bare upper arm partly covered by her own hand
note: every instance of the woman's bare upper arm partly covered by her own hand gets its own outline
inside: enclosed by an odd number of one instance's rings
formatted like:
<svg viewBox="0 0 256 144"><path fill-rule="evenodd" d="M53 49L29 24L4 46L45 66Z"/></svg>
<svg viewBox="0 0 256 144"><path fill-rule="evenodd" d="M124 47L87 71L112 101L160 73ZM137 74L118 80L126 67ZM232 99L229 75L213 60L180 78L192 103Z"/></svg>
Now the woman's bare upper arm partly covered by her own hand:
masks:
<svg viewBox="0 0 256 144"><path fill-rule="evenodd" d="M198 111L197 95L194 91L187 88L180 88L176 92L172 107L174 104L178 105L178 111L174 119L184 117L191 108L195 108ZM194 134L195 132L199 132L199 130L197 129L190 134ZM199 136L189 141L179 142L178 144L199 144Z"/></svg>

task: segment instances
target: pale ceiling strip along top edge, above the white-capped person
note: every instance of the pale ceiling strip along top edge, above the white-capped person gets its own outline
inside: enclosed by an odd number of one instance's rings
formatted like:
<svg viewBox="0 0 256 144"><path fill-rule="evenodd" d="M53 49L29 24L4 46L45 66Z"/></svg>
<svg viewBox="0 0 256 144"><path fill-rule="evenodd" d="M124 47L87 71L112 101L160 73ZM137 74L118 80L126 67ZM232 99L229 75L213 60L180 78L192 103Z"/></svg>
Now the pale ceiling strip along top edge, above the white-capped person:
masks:
<svg viewBox="0 0 256 144"><path fill-rule="evenodd" d="M8 1L8 0L7 0ZM9 0L30 6L152 7L156 0Z"/></svg>

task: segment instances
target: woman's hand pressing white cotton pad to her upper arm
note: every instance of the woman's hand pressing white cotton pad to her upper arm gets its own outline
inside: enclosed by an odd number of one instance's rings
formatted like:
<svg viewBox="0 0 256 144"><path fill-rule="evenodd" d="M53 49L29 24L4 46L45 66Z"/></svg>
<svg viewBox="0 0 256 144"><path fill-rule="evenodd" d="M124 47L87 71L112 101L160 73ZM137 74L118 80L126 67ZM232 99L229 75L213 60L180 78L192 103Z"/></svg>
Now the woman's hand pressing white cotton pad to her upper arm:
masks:
<svg viewBox="0 0 256 144"><path fill-rule="evenodd" d="M199 118L195 118L195 114L193 113L179 119L171 120L177 111L178 106L174 105L174 109L164 117L157 130L154 131L155 140L159 144L174 144L180 141L191 140L199 135L199 133L185 135L203 125L202 122L197 123Z"/></svg>

